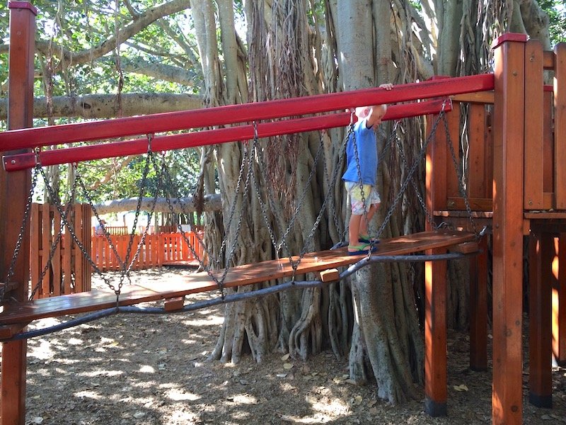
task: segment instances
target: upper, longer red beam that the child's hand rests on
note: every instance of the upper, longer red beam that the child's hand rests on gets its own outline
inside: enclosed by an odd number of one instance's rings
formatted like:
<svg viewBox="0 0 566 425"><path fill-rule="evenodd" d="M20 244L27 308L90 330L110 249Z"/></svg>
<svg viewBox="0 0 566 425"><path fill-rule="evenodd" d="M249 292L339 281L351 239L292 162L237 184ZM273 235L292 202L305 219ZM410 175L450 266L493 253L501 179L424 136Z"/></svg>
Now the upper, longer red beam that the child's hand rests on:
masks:
<svg viewBox="0 0 566 425"><path fill-rule="evenodd" d="M244 103L239 105L203 108L195 111L158 113L139 117L115 118L53 125L50 127L13 130L0 133L0 152L22 147L40 147L72 142L153 134L190 128L206 128L231 123L250 123L287 116L344 111L356 106L377 103L400 103L418 99L446 97L452 94L492 90L493 74L480 74L400 84L393 90L378 88L318 94L301 98Z"/></svg>

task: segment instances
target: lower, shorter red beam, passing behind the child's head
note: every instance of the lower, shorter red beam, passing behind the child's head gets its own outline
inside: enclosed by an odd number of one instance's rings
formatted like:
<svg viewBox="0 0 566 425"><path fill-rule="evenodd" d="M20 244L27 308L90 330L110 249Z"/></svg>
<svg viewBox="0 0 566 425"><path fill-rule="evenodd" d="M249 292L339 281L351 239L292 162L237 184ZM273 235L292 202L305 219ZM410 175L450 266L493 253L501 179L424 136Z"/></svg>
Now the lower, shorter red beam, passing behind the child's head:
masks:
<svg viewBox="0 0 566 425"><path fill-rule="evenodd" d="M439 113L444 100L425 101L419 103L405 103L393 105L387 110L385 120L398 120L400 118L414 117ZM452 103L447 100L444 111L451 111ZM355 115L354 115L355 118ZM272 123L258 124L258 137L272 137L287 135L296 132L323 130L326 128L343 127L350 123L350 113L335 113L310 118L298 118ZM151 150L154 152L185 147L203 145L216 145L218 143L238 142L252 140L254 137L253 125L203 130L180 135L158 136L151 140ZM123 157L127 155L144 154L148 150L148 139L134 139L123 142L112 142L81 147L69 147L39 152L37 158L33 153L6 155L3 158L6 171L29 169L35 166L36 161L43 166L56 164L69 164L71 162L89 161L92 159Z"/></svg>

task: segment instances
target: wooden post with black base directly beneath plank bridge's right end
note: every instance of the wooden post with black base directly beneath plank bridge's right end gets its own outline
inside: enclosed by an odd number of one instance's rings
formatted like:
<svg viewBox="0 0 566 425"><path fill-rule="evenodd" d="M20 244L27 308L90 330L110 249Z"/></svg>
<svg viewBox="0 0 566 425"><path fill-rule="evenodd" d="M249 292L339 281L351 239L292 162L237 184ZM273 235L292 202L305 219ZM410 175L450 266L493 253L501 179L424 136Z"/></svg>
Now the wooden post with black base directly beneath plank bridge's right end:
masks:
<svg viewBox="0 0 566 425"><path fill-rule="evenodd" d="M429 249L427 254L445 254ZM446 261L424 266L424 411L446 416Z"/></svg>

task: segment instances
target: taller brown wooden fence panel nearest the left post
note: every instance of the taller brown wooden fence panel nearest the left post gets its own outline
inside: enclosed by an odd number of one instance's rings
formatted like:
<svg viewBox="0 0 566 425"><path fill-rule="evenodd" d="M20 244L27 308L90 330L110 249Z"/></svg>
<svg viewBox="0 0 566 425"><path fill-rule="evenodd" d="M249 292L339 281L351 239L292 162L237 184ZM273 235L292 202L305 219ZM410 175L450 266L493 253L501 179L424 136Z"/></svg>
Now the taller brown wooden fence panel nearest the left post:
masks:
<svg viewBox="0 0 566 425"><path fill-rule="evenodd" d="M75 204L71 208L67 220L76 240L88 253L91 250L91 208L87 204ZM34 298L91 290L90 263L69 229L63 229L58 238L60 230L61 215L54 205L31 205L30 279Z"/></svg>

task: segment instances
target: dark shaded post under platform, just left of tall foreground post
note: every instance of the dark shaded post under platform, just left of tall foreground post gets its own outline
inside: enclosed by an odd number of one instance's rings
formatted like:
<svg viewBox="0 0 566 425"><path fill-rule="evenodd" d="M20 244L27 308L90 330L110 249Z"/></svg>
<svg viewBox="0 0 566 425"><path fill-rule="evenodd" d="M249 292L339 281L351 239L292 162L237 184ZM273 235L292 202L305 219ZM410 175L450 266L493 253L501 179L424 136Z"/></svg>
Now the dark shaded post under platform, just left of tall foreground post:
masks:
<svg viewBox="0 0 566 425"><path fill-rule="evenodd" d="M470 369L487 370L487 237L470 259Z"/></svg>

